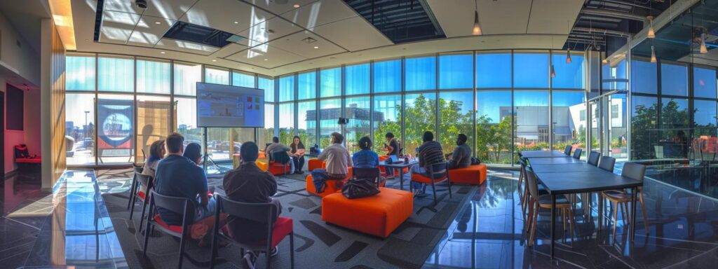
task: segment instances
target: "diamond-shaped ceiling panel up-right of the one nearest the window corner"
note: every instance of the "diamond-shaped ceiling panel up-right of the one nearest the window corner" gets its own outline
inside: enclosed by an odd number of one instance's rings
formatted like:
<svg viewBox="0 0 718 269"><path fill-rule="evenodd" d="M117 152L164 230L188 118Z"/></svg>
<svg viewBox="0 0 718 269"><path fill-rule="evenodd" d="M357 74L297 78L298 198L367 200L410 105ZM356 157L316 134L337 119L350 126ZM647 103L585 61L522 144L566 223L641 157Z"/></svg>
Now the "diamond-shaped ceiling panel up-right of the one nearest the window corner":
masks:
<svg viewBox="0 0 718 269"><path fill-rule="evenodd" d="M305 42L304 40L308 38L314 39L315 41L312 43ZM292 34L289 37L275 39L269 42L269 46L284 49L306 58L316 58L346 52L345 49L332 44L332 42L322 37L317 37L316 34L312 34L312 32L309 31L302 31ZM314 47L317 48L315 49Z"/></svg>

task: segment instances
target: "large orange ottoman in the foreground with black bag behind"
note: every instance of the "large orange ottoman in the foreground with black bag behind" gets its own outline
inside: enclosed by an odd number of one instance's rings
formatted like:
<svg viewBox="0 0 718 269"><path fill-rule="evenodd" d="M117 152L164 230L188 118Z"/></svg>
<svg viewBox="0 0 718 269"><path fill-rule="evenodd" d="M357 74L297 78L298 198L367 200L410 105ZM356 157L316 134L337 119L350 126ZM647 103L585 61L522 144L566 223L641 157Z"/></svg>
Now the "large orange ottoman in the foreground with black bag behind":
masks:
<svg viewBox="0 0 718 269"><path fill-rule="evenodd" d="M372 197L347 199L341 193L322 199L322 220L351 230L388 237L414 211L414 194L379 188Z"/></svg>

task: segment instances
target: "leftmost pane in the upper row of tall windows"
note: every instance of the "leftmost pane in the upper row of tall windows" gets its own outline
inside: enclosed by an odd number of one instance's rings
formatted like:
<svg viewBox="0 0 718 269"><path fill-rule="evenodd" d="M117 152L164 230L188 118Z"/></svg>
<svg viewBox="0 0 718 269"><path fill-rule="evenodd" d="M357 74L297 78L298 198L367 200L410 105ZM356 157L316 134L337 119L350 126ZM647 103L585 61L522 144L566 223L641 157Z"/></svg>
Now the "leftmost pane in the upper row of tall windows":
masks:
<svg viewBox="0 0 718 269"><path fill-rule="evenodd" d="M65 90L95 90L95 57L65 58Z"/></svg>

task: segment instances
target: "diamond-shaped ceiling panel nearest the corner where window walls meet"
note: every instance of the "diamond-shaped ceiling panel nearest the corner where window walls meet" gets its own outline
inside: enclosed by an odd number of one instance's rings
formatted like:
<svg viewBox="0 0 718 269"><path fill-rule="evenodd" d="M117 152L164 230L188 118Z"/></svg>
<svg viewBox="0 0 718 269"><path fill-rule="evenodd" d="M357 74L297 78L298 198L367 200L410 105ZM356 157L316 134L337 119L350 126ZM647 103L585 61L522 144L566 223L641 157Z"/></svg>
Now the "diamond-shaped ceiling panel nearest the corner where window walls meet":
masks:
<svg viewBox="0 0 718 269"><path fill-rule="evenodd" d="M235 55L227 57L228 60L245 62L250 65L258 65L265 68L274 68L279 65L286 65L292 62L306 60L306 58L287 52L284 49L261 45L251 49L243 50Z"/></svg>

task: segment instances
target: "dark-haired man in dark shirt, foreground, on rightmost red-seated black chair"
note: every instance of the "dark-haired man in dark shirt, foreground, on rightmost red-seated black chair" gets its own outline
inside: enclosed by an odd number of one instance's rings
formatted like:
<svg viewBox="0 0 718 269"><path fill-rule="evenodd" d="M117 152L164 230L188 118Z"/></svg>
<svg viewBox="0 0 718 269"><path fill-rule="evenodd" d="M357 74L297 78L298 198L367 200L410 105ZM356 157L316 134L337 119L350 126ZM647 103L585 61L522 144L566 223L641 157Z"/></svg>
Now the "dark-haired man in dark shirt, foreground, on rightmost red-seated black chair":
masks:
<svg viewBox="0 0 718 269"><path fill-rule="evenodd" d="M251 141L242 143L239 152L241 163L224 177L223 187L227 197L238 202L276 204L276 220L281 214L279 199L272 198L276 194L276 180L271 173L262 171L255 163L259 155L257 144ZM267 234L266 224L238 217L229 217L227 225L230 235L239 242L257 242L263 240ZM271 255L276 253L275 247ZM253 268L257 255L258 253L251 251L244 255L243 260L251 265L249 268Z"/></svg>

